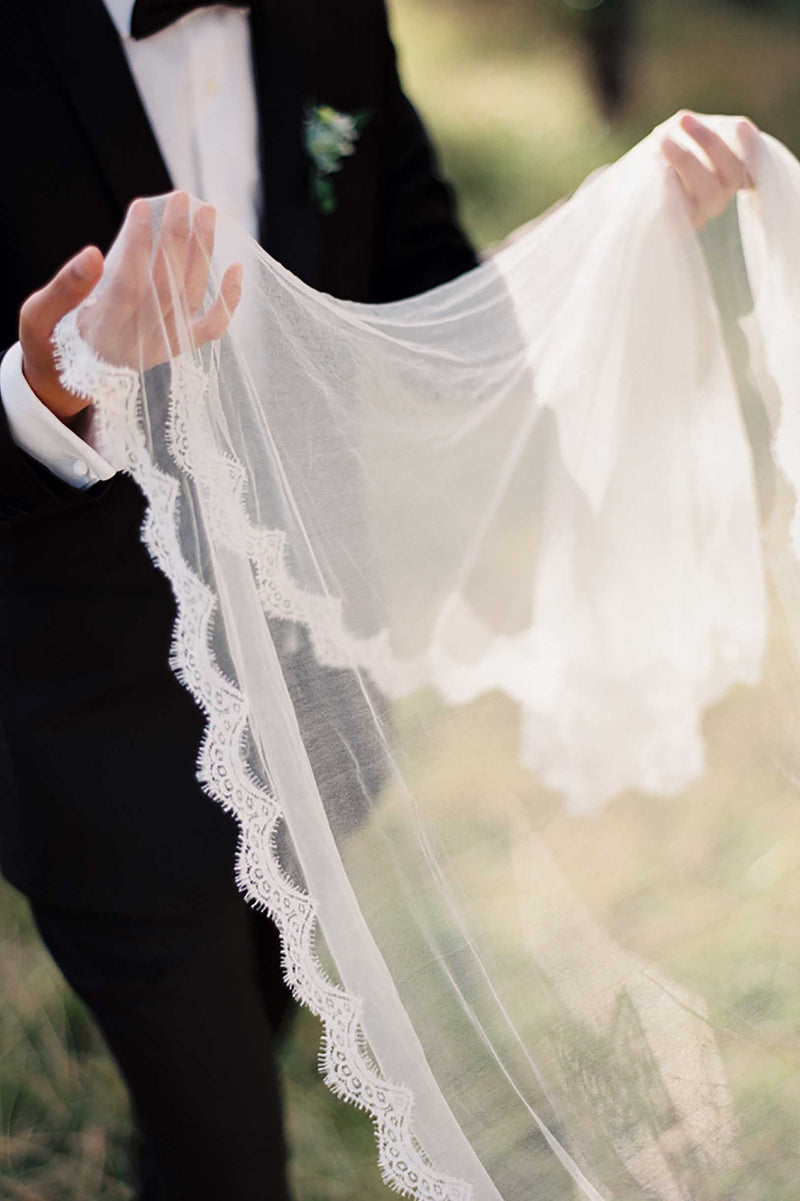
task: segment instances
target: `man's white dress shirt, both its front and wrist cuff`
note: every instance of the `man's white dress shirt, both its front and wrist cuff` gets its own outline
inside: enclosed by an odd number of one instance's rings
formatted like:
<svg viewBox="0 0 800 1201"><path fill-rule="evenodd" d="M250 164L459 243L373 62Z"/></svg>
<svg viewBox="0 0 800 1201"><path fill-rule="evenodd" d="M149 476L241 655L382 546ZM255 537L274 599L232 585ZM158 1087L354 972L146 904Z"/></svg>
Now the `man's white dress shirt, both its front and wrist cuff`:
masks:
<svg viewBox="0 0 800 1201"><path fill-rule="evenodd" d="M175 187L214 204L253 237L261 177L250 26L241 8L197 8L151 37L130 36L133 0L105 0ZM97 97L102 103L102 97ZM76 246L76 252L80 250ZM17 342L0 363L0 399L17 446L76 488L114 468L38 400Z"/></svg>

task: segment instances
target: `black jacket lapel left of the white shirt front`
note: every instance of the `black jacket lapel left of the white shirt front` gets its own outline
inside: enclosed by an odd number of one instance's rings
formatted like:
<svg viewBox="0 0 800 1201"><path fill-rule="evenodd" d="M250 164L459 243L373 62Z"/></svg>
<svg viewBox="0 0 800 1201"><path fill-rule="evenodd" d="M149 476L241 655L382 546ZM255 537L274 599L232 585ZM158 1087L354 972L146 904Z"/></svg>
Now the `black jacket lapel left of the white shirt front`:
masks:
<svg viewBox="0 0 800 1201"><path fill-rule="evenodd" d="M121 220L137 196L173 185L117 29L102 0L32 0L31 8Z"/></svg>

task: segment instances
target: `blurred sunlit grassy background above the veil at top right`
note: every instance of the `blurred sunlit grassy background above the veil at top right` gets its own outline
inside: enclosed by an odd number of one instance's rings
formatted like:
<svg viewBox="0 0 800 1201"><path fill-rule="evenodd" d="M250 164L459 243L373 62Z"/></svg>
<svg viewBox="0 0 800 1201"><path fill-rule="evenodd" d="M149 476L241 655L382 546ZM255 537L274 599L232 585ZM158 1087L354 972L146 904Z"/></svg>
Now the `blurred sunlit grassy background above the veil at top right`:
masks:
<svg viewBox="0 0 800 1201"><path fill-rule="evenodd" d="M401 68L482 247L619 157L679 108L747 113L800 150L798 22L756 6L643 0L631 100L613 125L562 0L394 0Z"/></svg>

